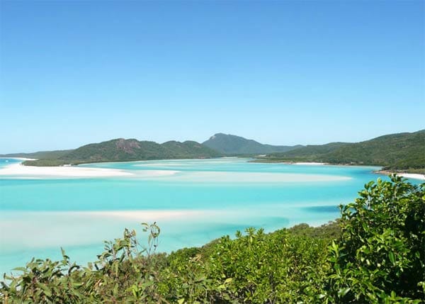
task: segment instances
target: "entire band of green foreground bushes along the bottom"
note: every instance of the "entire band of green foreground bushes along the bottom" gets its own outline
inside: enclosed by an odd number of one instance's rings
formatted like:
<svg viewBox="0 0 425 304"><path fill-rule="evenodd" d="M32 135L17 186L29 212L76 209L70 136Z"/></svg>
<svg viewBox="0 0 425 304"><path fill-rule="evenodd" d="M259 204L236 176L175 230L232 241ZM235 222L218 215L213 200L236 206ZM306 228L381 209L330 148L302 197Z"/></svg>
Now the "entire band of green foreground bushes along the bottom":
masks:
<svg viewBox="0 0 425 304"><path fill-rule="evenodd" d="M425 184L370 182L341 219L266 234L249 228L155 254L159 227L106 242L88 266L33 259L4 276L4 303L424 303Z"/></svg>

